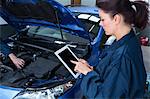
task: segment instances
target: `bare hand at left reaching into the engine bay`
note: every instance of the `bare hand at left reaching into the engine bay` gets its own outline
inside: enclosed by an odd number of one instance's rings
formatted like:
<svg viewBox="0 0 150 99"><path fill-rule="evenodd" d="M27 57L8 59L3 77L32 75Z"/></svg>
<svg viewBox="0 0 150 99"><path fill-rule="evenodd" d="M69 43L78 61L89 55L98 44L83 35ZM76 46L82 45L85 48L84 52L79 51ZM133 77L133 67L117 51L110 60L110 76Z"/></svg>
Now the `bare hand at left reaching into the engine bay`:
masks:
<svg viewBox="0 0 150 99"><path fill-rule="evenodd" d="M25 61L23 59L17 58L13 53L9 54L9 57L18 69L21 69L24 66Z"/></svg>

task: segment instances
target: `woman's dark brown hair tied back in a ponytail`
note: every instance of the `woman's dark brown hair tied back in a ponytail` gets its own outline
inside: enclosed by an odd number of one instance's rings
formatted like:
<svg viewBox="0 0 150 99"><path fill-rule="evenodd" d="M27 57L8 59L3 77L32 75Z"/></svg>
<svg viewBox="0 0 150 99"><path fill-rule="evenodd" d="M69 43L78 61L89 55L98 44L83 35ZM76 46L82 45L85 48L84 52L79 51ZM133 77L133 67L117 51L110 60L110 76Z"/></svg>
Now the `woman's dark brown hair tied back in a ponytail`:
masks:
<svg viewBox="0 0 150 99"><path fill-rule="evenodd" d="M148 24L148 3L129 0L96 0L96 6L112 16L121 14L127 24L144 29Z"/></svg>

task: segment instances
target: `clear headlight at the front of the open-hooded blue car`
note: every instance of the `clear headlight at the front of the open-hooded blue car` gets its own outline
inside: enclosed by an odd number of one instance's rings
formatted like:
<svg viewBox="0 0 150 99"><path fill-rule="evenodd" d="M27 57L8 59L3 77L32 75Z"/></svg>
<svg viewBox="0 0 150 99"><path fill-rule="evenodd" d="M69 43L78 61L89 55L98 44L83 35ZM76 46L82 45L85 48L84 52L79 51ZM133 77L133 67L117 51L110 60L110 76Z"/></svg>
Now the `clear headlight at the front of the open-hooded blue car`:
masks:
<svg viewBox="0 0 150 99"><path fill-rule="evenodd" d="M72 83L68 82L63 85L56 86L51 89L32 89L28 88L25 91L20 92L14 99L55 99L61 96L65 91L73 86Z"/></svg>

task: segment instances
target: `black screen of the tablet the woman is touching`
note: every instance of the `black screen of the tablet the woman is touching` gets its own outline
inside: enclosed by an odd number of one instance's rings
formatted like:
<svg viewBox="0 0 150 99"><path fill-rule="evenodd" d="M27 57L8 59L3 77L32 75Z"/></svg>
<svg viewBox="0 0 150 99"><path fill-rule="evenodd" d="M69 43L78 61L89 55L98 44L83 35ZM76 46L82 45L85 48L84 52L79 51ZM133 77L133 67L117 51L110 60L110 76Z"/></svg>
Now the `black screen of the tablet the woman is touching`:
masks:
<svg viewBox="0 0 150 99"><path fill-rule="evenodd" d="M69 51L69 49L63 50L61 53L59 53L59 56L62 58L62 60L68 65L68 67L74 72L75 64L71 63L70 60L77 61L77 59L72 55L72 53Z"/></svg>

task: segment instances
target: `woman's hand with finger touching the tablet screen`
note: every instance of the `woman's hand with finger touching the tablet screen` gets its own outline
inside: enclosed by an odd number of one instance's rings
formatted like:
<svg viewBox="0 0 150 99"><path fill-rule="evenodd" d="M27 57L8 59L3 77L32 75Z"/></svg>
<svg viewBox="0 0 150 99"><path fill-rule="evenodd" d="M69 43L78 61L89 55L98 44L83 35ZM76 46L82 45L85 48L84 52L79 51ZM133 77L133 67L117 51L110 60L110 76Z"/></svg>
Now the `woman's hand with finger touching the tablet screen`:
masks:
<svg viewBox="0 0 150 99"><path fill-rule="evenodd" d="M84 75L93 70L93 67L91 67L84 59L79 59L78 61L71 60L71 62L76 65L74 71Z"/></svg>

